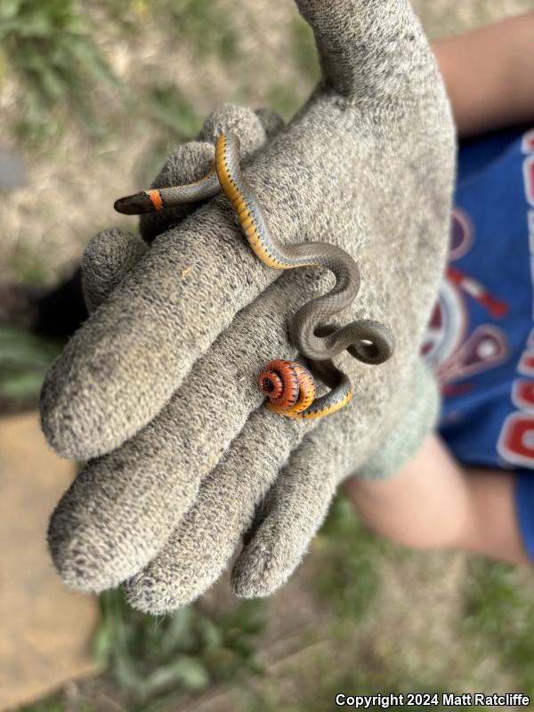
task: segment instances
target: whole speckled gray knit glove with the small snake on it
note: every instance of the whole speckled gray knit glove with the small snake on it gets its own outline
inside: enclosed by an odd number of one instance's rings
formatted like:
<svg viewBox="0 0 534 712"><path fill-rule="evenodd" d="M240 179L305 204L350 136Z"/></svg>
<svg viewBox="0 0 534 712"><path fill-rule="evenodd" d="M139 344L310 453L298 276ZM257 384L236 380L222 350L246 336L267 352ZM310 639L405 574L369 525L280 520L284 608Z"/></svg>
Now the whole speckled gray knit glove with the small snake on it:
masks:
<svg viewBox="0 0 534 712"><path fill-rule="evenodd" d="M298 5L323 68L312 99L284 128L269 112L215 112L158 185L201 177L216 135L235 131L271 231L323 239L359 264L360 295L338 323L381 320L396 351L382 366L344 355L349 406L324 421L288 420L261 407L256 377L272 358L295 356L287 323L328 276L265 268L224 196L145 218L145 237L157 235L145 254L121 231L93 241L86 294L105 301L42 396L54 449L93 459L53 514L49 542L70 586L126 582L144 611L201 595L244 532L232 587L271 594L336 484L358 469L391 474L433 424L435 390L417 349L448 240L454 136L444 89L404 0Z"/></svg>

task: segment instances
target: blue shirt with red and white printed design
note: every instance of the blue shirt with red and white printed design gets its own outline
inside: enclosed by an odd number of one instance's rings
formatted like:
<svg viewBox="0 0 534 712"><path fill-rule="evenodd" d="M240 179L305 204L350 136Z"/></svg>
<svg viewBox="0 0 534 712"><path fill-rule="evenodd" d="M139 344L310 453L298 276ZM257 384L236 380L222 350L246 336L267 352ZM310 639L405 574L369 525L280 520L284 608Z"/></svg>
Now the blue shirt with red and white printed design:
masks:
<svg viewBox="0 0 534 712"><path fill-rule="evenodd" d="M465 465L516 472L534 561L534 129L463 142L449 263L423 352L440 433Z"/></svg>

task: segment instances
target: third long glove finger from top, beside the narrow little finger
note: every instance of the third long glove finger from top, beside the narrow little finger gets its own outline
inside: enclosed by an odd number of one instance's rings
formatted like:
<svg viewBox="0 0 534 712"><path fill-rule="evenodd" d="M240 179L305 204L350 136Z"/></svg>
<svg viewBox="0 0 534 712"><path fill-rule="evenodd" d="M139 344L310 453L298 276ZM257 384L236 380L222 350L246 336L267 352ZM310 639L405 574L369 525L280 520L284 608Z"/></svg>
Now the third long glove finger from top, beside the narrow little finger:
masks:
<svg viewBox="0 0 534 712"><path fill-rule="evenodd" d="M194 506L165 546L126 582L134 608L153 614L174 611L214 584L302 434L295 422L267 410L252 414L246 429L202 482Z"/></svg>

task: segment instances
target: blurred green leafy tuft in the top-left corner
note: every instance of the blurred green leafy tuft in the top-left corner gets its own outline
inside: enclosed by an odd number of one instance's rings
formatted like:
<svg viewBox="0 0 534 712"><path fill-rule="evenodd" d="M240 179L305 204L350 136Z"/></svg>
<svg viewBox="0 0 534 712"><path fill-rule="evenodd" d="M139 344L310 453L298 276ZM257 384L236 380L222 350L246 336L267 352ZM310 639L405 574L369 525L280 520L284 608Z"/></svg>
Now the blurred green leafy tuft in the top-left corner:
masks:
<svg viewBox="0 0 534 712"><path fill-rule="evenodd" d="M30 143L58 134L61 108L75 109L93 134L101 127L89 89L97 82L121 87L91 36L76 0L2 0L0 53L20 80L19 134Z"/></svg>

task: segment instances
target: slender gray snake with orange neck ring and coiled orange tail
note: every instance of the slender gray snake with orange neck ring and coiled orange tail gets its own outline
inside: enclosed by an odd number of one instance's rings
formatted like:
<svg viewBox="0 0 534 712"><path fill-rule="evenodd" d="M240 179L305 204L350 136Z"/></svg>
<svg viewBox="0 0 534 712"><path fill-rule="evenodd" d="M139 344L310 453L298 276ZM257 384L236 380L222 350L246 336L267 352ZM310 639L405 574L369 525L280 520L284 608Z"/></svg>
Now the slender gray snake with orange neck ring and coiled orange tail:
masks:
<svg viewBox="0 0 534 712"><path fill-rule="evenodd" d="M258 376L268 409L281 415L308 420L325 417L352 400L349 377L333 359L346 349L362 363L377 365L392 356L394 336L375 320L355 320L343 327L328 325L328 319L349 307L360 290L360 270L351 255L327 242L284 244L269 230L260 201L241 170L239 136L220 134L215 143L214 166L198 181L184 185L142 190L119 198L121 214L147 214L212 198L223 190L230 200L241 230L255 255L267 267L291 270L326 267L336 277L335 286L303 304L291 320L290 340L305 359L272 360ZM315 376L328 392L316 398Z"/></svg>

